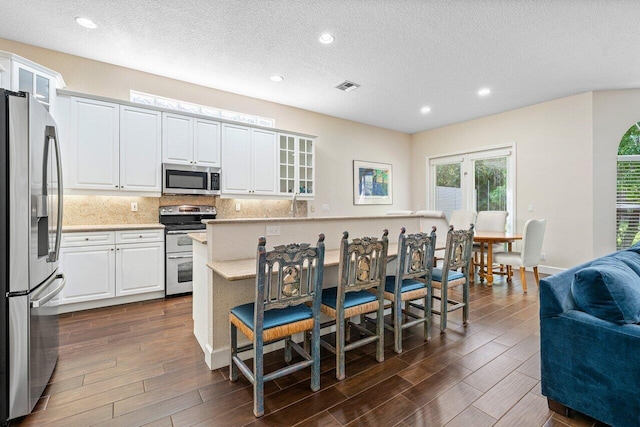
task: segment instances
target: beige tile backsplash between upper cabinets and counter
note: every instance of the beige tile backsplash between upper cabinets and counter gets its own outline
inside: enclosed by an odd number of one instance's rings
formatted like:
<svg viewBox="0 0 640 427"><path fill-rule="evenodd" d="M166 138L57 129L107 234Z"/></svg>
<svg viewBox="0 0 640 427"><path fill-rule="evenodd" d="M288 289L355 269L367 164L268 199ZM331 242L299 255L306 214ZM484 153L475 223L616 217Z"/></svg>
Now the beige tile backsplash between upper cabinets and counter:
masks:
<svg viewBox="0 0 640 427"><path fill-rule="evenodd" d="M131 203L138 211L131 212ZM211 196L64 196L64 225L153 224L166 205L214 205L218 218L278 218L291 215L290 200L221 199ZM236 210L239 204L240 210ZM307 216L307 202L297 201L297 216Z"/></svg>

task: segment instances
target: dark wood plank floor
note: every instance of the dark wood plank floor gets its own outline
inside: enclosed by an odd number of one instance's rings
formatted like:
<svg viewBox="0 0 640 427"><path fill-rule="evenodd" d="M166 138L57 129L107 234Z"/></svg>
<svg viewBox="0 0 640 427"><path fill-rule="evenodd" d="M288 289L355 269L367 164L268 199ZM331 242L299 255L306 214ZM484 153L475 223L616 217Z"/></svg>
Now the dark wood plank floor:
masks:
<svg viewBox="0 0 640 427"><path fill-rule="evenodd" d="M270 382L266 414L252 413L252 389L228 370L209 371L192 335L191 298L155 300L64 315L60 359L36 412L19 426L591 426L550 412L540 394L538 293L520 284L472 285L471 323L452 314L446 335L424 343L419 328L385 362L374 345L347 357L335 379L322 363L321 389L307 370ZM411 334L413 332L413 334ZM283 364L282 352L267 366Z"/></svg>

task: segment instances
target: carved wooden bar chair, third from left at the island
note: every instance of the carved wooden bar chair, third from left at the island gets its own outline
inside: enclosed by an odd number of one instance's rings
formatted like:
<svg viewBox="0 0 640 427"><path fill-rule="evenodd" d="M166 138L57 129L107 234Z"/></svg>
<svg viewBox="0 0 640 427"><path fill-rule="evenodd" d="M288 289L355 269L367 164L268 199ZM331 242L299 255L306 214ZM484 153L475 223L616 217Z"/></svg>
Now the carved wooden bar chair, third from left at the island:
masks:
<svg viewBox="0 0 640 427"><path fill-rule="evenodd" d="M394 350L402 353L402 331L418 324L424 325L424 340L430 339L431 274L436 245L436 227L431 233L406 235L402 227L398 237L398 258L395 275L387 276L385 299L391 301ZM412 302L422 300L422 304ZM404 309L402 307L404 303ZM417 309L419 314L412 311ZM403 316L404 315L404 316ZM403 322L403 318L407 320Z"/></svg>

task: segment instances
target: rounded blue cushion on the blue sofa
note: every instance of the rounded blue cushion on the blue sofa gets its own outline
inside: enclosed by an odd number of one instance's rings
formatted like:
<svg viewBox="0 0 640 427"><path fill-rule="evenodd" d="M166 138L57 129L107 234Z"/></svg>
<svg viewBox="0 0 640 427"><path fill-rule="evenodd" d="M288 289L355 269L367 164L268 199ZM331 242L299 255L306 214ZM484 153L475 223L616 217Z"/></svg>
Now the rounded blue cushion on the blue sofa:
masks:
<svg viewBox="0 0 640 427"><path fill-rule="evenodd" d="M576 272L571 293L582 311L609 322L640 323L640 276L624 261L605 257Z"/></svg>

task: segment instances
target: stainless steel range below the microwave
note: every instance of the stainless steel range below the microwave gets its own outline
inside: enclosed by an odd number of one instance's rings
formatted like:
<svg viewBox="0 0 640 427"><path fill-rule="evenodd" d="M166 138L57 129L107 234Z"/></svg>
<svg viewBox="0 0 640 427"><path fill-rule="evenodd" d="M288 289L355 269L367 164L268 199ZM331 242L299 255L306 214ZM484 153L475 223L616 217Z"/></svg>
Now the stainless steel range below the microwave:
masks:
<svg viewBox="0 0 640 427"><path fill-rule="evenodd" d="M204 231L205 219L216 218L216 207L173 205L160 208L165 226L165 292L167 296L193 291L193 240L188 233Z"/></svg>

